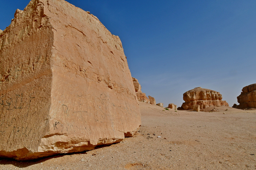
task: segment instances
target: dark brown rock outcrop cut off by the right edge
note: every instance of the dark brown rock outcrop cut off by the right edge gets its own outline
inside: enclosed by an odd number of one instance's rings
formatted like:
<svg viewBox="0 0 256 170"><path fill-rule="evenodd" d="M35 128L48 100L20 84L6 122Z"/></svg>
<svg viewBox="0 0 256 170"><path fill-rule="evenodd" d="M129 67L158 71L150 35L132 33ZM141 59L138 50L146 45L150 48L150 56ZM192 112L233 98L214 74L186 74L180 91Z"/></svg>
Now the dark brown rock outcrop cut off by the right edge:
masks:
<svg viewBox="0 0 256 170"><path fill-rule="evenodd" d="M241 94L237 97L239 109L256 108L256 84L247 85L242 89Z"/></svg>

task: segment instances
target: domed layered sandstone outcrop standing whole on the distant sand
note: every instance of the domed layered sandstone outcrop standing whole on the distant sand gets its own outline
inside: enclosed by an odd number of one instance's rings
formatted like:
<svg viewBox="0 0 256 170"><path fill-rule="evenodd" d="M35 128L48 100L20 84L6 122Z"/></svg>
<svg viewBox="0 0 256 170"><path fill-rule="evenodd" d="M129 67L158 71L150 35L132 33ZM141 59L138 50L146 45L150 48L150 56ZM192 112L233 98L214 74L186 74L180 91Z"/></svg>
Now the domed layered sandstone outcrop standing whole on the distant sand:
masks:
<svg viewBox="0 0 256 170"><path fill-rule="evenodd" d="M200 109L210 106L229 106L226 101L222 100L222 95L217 91L206 88L194 88L183 94L185 101L181 107L185 110L193 109L194 105L200 105Z"/></svg>

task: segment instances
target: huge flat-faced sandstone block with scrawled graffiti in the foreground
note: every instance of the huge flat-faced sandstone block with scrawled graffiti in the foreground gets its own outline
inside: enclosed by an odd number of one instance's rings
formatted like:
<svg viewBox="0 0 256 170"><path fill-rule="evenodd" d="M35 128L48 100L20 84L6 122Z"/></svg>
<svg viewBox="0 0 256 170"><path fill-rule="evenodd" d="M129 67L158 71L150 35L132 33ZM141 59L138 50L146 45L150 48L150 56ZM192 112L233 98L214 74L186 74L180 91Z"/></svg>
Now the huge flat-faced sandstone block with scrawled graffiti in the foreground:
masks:
<svg viewBox="0 0 256 170"><path fill-rule="evenodd" d="M32 0L0 34L0 157L121 142L141 125L119 37L64 0Z"/></svg>

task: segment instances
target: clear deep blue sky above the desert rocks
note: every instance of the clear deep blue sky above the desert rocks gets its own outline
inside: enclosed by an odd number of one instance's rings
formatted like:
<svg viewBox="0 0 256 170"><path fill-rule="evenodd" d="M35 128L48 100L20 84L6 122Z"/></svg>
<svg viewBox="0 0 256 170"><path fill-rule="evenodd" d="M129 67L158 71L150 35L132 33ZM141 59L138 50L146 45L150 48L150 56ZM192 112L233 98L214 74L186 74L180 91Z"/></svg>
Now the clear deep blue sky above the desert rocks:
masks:
<svg viewBox="0 0 256 170"><path fill-rule="evenodd" d="M120 37L132 77L165 107L181 106L195 87L218 91L233 106L256 83L256 0L67 1ZM0 29L28 3L1 0Z"/></svg>

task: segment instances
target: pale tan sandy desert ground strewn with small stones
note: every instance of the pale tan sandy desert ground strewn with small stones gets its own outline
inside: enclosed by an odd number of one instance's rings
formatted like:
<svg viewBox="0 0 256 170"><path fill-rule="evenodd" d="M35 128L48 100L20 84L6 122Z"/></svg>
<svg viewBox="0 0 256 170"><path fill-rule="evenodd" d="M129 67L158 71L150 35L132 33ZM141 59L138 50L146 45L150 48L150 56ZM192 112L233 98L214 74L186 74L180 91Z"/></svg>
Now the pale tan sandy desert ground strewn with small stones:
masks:
<svg viewBox="0 0 256 170"><path fill-rule="evenodd" d="M132 138L36 161L0 159L0 170L256 170L256 111L215 109L167 111L140 102L142 127Z"/></svg>

